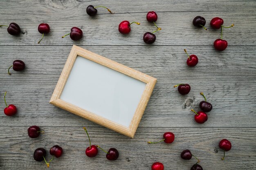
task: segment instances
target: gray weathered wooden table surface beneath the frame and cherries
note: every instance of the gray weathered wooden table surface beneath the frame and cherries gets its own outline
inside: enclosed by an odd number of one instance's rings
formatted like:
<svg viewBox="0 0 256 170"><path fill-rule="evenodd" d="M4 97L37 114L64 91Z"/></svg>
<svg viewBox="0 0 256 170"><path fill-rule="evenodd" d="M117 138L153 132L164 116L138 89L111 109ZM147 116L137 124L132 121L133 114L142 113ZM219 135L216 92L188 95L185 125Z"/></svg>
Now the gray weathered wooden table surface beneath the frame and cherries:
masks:
<svg viewBox="0 0 256 170"><path fill-rule="evenodd" d="M86 14L88 5L103 5L115 12L98 9L97 16ZM180 153L190 149L204 170L256 169L256 1L254 0L2 0L0 24L16 22L22 33L18 37L0 28L0 110L4 92L8 104L15 104L18 114L0 114L0 169L43 170L46 165L33 159L36 148L47 151L60 145L63 156L50 164L52 170L150 170L160 161L165 170L189 170L196 162L182 160ZM153 45L143 42L143 34L153 31L146 13L156 11L157 25ZM192 20L201 15L207 20L207 31L195 28ZM213 42L220 30L209 22L221 17L229 46L218 52ZM123 20L141 22L132 25L129 35L121 35L118 25ZM38 24L46 22L51 32L40 44ZM69 37L72 26L83 30L81 40ZM67 56L76 44L111 60L158 79L134 139L99 126L49 104ZM183 49L199 58L197 66L186 65ZM7 74L13 60L23 60L26 69ZM191 91L182 96L173 85L188 83ZM213 105L208 121L197 124L191 108L199 110L204 92ZM40 126L44 135L31 139L27 128ZM108 161L105 153L97 157L85 155L89 141L83 126L88 128L92 144L119 150L117 161ZM175 134L173 144L147 144L162 139L164 132ZM226 159L218 150L221 139L232 143ZM51 155L47 155L50 159Z"/></svg>

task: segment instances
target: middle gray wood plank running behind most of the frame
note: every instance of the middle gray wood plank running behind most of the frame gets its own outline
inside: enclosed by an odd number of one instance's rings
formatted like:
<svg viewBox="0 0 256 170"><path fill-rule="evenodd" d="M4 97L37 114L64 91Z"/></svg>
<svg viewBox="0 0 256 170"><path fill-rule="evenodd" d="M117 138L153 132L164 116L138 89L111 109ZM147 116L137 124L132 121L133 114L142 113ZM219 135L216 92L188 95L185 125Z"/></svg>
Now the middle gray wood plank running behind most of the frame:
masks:
<svg viewBox="0 0 256 170"><path fill-rule="evenodd" d="M222 53L210 46L188 47L189 53L199 57L194 68L186 65L186 46L82 47L158 79L140 127L256 127L256 47L232 46ZM0 98L8 91L7 102L19 109L14 117L0 115L4 125L63 126L65 122L65 126L98 126L48 103L71 48L4 46ZM8 75L7 68L16 59L24 60L27 68ZM180 95L173 88L179 83L189 83L191 92ZM190 111L199 110L201 91L213 104L203 125L195 123ZM2 103L0 110L4 107Z"/></svg>

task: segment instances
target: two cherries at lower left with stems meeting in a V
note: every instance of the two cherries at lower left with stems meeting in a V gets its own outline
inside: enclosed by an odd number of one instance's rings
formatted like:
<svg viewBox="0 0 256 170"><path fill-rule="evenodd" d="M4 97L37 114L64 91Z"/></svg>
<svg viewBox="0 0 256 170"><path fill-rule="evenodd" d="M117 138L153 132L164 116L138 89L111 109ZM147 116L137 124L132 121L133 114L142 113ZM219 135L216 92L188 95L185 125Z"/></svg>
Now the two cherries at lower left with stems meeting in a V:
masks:
<svg viewBox="0 0 256 170"><path fill-rule="evenodd" d="M50 154L53 155L52 159L49 160L49 162L46 161L45 156L46 156L46 150L45 148L37 148L34 151L34 159L35 161L41 162L41 161L45 161L47 167L50 166L50 162L54 159L54 157L59 158L61 157L62 153L63 153L63 149L58 146L58 145L54 145L51 149L50 149Z"/></svg>

